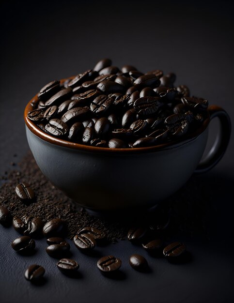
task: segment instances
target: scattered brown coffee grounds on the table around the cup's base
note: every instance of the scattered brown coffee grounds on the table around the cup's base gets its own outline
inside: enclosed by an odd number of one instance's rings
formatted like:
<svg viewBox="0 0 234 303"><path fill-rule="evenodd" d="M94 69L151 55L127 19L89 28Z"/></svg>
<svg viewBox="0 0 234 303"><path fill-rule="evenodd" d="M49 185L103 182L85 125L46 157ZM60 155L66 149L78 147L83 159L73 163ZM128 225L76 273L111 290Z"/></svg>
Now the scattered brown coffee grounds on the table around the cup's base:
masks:
<svg viewBox="0 0 234 303"><path fill-rule="evenodd" d="M68 238L73 239L83 227L96 227L107 234L109 242L124 240L129 227L134 221L149 222L157 220L157 208L150 215L135 216L134 213L121 212L121 216L94 216L86 212L76 202L66 197L55 188L42 174L31 152L28 152L18 164L18 169L5 173L5 180L0 188L0 205L5 206L19 218L26 215L39 217L44 223L54 218L61 218L67 224ZM35 192L35 202L27 205L16 197L16 185L29 183ZM163 201L161 210L170 214L168 235L176 234L203 235L207 238L207 217L210 193L198 177L192 177L187 184L169 199ZM111 201L110 201L111 203ZM120 219L121 218L121 219ZM170 238L169 237L169 238Z"/></svg>

